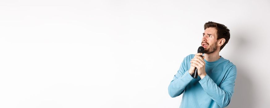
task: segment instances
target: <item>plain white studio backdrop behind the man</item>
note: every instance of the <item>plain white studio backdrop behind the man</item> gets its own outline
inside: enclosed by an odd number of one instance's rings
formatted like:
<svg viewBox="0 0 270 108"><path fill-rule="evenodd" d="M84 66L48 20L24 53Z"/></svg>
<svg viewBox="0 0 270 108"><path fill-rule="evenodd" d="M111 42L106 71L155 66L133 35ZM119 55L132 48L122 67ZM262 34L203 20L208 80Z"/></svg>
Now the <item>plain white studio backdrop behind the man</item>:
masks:
<svg viewBox="0 0 270 108"><path fill-rule="evenodd" d="M269 0L1 0L1 108L178 108L167 88L203 25L230 29L228 108L269 106Z"/></svg>

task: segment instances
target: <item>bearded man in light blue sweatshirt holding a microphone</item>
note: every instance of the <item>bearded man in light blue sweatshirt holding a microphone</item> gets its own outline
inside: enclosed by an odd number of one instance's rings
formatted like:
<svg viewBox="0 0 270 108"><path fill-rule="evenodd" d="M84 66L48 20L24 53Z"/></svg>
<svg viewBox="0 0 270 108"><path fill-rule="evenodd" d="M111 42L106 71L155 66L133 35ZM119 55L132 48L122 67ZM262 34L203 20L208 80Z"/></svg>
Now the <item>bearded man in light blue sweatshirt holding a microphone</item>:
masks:
<svg viewBox="0 0 270 108"><path fill-rule="evenodd" d="M168 87L172 98L183 93L180 108L226 107L234 93L236 66L219 56L230 39L230 30L214 22L205 23L204 29L201 42L204 54L186 56ZM197 79L192 77L195 67Z"/></svg>

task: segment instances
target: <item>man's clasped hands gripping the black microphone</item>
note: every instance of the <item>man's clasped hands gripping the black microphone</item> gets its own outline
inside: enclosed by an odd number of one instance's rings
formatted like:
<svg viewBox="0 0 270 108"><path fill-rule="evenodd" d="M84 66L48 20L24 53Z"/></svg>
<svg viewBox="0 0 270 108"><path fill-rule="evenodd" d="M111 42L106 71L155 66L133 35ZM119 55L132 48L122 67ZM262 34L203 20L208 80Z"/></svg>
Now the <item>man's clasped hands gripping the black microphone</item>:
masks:
<svg viewBox="0 0 270 108"><path fill-rule="evenodd" d="M201 57L201 55L203 55L203 53L197 53L195 54L194 58L191 59L190 69L188 72L192 75L196 67L198 69L198 75L201 79L203 79L206 76L204 60L205 56Z"/></svg>

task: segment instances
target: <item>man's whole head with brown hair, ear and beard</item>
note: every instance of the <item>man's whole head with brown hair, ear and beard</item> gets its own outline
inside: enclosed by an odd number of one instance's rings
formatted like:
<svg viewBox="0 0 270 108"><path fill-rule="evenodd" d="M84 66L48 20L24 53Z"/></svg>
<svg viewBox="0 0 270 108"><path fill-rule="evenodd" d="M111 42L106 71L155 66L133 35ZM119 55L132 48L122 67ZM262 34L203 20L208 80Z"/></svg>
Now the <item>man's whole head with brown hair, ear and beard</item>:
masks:
<svg viewBox="0 0 270 108"><path fill-rule="evenodd" d="M210 54L222 48L230 39L230 30L223 24L215 22L207 22L204 25L204 33L202 38L202 46L205 48L205 53Z"/></svg>

